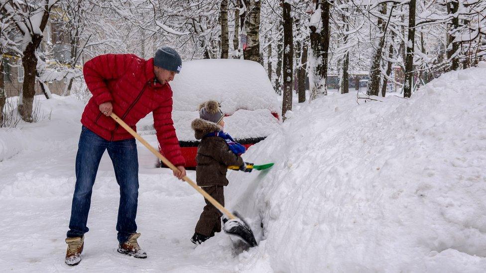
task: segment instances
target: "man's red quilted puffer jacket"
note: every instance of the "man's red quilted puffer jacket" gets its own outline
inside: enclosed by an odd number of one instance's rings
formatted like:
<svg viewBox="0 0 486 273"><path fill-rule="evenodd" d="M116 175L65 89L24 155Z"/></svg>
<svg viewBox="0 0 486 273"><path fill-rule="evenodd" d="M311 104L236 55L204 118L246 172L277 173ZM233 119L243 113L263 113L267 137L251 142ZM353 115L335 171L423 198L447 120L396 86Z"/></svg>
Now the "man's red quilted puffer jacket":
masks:
<svg viewBox="0 0 486 273"><path fill-rule="evenodd" d="M107 54L88 61L84 79L93 97L86 105L81 123L106 140L133 138L122 126L101 113L99 105L111 101L113 112L136 131L135 124L153 112L157 140L164 156L175 166L184 166L179 140L172 121L172 89L155 82L153 58L132 54Z"/></svg>

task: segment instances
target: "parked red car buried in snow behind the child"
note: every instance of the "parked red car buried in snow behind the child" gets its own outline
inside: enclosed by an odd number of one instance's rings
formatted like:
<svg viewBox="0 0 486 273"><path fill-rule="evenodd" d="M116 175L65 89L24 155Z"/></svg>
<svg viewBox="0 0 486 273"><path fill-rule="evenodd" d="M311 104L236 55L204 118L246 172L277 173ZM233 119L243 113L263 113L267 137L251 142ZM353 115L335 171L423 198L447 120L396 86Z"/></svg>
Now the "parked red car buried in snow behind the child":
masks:
<svg viewBox="0 0 486 273"><path fill-rule="evenodd" d="M246 148L263 140L279 126L278 97L263 67L252 61L209 59L183 62L171 82L172 119L186 167L196 166L199 141L191 121L198 106L210 99L220 102L225 131Z"/></svg>

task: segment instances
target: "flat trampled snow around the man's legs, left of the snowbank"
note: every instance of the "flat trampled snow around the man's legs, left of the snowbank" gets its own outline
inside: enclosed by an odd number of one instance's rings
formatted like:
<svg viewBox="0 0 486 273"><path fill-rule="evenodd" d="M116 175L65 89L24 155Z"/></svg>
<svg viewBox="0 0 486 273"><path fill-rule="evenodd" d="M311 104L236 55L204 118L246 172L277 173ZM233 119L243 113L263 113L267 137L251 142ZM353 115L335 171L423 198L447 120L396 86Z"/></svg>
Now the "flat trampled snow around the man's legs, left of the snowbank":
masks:
<svg viewBox="0 0 486 273"><path fill-rule="evenodd" d="M1 132L3 140L10 140L10 150L20 150L0 162L2 272L72 270L64 264L64 239L74 191L74 160L83 105L72 97L42 101L43 107L49 103L56 104L50 121L27 125L21 132L19 128ZM15 136L19 139L12 139ZM152 145L156 144L154 136L145 137ZM21 147L23 141L29 142L28 147ZM120 195L112 163L105 153L93 189L83 261L76 269L224 271L223 264L212 265L214 261L195 254L195 246L189 241L204 206L203 197L185 182L173 178L168 169L155 169L155 157L138 145L137 224L142 234L139 243L147 251L148 259L134 259L117 252L115 226ZM188 175L195 179L194 171L188 171Z"/></svg>

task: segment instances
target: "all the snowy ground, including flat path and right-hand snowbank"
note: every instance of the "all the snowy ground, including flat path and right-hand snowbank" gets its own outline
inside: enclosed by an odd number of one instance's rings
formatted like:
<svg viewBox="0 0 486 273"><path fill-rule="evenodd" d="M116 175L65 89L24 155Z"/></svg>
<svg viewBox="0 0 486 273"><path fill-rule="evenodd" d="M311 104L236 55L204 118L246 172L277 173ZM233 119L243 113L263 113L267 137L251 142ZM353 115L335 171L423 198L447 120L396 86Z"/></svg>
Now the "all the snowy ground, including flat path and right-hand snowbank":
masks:
<svg viewBox="0 0 486 273"><path fill-rule="evenodd" d="M119 190L104 157L74 269L64 265L64 238L84 104L74 96L42 100L50 120L0 129L0 265L5 272L484 272L483 66L444 75L409 100L357 104L356 92L331 92L294 105L290 119L244 155L275 166L228 176L227 207L238 208L260 240L249 250L225 234L195 248L189 238L202 197L154 169L139 145L137 223L149 258L118 254Z"/></svg>

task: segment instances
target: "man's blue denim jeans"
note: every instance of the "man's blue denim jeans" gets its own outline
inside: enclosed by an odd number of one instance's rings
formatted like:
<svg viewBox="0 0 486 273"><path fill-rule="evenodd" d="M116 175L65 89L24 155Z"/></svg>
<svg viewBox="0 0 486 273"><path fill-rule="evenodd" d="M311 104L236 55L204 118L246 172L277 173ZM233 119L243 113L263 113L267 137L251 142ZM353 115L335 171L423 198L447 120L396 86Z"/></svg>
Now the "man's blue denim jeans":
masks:
<svg viewBox="0 0 486 273"><path fill-rule="evenodd" d="M91 193L101 157L108 150L115 177L120 185L118 208L118 241L125 242L135 233L138 199L138 155L135 139L108 141L82 127L76 155L76 186L67 237L81 237L89 231L86 223L91 206Z"/></svg>

